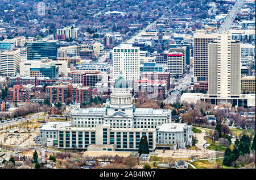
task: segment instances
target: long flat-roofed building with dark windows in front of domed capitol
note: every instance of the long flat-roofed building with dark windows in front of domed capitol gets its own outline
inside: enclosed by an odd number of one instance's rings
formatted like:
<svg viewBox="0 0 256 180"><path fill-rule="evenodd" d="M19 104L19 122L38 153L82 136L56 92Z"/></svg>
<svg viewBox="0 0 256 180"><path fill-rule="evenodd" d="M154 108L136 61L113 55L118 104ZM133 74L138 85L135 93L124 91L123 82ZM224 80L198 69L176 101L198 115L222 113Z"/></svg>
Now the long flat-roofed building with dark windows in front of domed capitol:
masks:
<svg viewBox="0 0 256 180"><path fill-rule="evenodd" d="M58 149L86 149L137 151L142 137L148 137L149 150L155 149L155 128L110 128L110 124L96 127L63 127L58 129ZM96 146L95 146L96 145ZM100 146L97 146L100 145ZM103 148L104 145L107 145ZM115 145L115 146L108 146ZM111 148L107 148L111 147Z"/></svg>

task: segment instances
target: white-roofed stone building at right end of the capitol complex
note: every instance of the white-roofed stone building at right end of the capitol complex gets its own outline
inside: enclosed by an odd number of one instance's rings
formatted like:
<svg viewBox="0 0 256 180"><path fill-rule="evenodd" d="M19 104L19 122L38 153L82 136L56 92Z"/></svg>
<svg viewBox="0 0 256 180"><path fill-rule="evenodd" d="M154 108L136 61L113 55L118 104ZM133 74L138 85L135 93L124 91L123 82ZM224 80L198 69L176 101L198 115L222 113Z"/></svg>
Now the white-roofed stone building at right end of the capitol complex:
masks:
<svg viewBox="0 0 256 180"><path fill-rule="evenodd" d="M156 127L156 149L185 148L192 145L192 125L168 123Z"/></svg>

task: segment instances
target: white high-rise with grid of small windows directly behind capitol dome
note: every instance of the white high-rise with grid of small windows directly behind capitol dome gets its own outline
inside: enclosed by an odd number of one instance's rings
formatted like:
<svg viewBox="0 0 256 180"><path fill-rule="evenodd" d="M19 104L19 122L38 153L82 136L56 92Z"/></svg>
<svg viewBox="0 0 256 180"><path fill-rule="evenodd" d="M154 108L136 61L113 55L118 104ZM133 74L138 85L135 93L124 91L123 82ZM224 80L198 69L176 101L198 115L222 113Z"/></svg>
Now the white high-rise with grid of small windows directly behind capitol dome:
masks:
<svg viewBox="0 0 256 180"><path fill-rule="evenodd" d="M121 44L114 48L114 79L119 78L120 72L127 81L139 79L139 57L139 47L133 47L131 44ZM131 87L131 83L129 85Z"/></svg>

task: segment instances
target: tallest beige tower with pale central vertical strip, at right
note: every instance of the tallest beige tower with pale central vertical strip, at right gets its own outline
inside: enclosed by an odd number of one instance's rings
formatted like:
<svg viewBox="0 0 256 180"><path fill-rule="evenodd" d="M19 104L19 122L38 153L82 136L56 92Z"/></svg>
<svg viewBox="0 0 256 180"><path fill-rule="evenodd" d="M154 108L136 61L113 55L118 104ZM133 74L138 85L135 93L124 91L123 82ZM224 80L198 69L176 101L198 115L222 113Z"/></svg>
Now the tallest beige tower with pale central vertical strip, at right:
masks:
<svg viewBox="0 0 256 180"><path fill-rule="evenodd" d="M241 43L219 34L209 43L209 95L232 98L241 93Z"/></svg>

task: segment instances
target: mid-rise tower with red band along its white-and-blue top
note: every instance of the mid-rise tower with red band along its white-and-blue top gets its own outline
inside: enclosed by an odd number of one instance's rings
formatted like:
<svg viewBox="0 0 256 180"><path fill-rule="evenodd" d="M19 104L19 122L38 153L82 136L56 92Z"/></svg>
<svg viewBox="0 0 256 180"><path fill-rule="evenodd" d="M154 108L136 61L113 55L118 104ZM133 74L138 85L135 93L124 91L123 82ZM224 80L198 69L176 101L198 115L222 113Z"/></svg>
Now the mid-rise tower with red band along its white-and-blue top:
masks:
<svg viewBox="0 0 256 180"><path fill-rule="evenodd" d="M170 72L171 77L181 77L184 73L183 68L184 57L181 52L170 52L167 54L167 71Z"/></svg>

